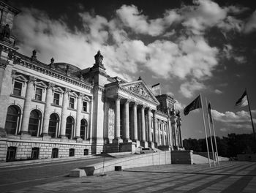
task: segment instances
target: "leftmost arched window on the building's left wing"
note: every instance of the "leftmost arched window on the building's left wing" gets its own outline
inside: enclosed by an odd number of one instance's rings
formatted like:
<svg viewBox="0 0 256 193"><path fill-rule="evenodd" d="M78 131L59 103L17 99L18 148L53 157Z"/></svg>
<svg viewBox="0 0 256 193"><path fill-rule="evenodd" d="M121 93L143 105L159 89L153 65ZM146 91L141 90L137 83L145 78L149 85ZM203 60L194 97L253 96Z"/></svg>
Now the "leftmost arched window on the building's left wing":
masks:
<svg viewBox="0 0 256 193"><path fill-rule="evenodd" d="M5 131L7 134L16 135L20 123L20 108L16 105L11 105L7 110L7 119L5 121Z"/></svg>

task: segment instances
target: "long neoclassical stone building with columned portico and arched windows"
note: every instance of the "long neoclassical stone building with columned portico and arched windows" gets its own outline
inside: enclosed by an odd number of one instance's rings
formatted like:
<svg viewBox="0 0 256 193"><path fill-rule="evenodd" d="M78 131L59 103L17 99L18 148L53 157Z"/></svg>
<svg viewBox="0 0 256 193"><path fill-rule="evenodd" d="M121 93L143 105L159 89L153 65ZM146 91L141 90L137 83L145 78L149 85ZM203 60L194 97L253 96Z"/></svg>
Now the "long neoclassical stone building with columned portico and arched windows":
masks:
<svg viewBox="0 0 256 193"><path fill-rule="evenodd" d="M19 10L0 7L0 161L182 147L171 96L154 96L141 78L110 77L99 51L87 69L18 53Z"/></svg>

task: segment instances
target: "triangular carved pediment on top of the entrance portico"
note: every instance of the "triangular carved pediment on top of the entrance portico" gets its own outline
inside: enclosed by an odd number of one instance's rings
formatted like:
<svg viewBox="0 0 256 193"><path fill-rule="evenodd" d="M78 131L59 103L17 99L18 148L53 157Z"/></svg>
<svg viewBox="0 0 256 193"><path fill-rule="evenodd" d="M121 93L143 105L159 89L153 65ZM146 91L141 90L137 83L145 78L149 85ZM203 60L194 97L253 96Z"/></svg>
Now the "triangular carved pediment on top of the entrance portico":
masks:
<svg viewBox="0 0 256 193"><path fill-rule="evenodd" d="M159 105L159 101L154 96L153 92L150 88L144 83L143 80L137 80L131 83L122 83L120 84L122 88L126 88L127 90L131 91L134 94L138 94L143 96L143 98L148 99L151 102L157 103Z"/></svg>

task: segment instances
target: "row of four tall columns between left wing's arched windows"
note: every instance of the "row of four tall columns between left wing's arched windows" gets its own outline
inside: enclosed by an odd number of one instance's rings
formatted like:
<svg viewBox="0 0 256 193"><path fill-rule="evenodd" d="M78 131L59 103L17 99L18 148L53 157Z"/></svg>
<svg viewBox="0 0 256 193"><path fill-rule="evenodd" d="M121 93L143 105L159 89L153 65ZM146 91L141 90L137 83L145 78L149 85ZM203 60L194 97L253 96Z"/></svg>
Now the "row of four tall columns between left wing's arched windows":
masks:
<svg viewBox="0 0 256 193"><path fill-rule="evenodd" d="M28 133L29 129L29 117L31 111L31 102L33 99L34 93L34 81L36 80L35 77L30 76L29 81L27 84L26 89L26 99L24 102L24 110L23 110L23 120L21 124L21 133ZM42 135L48 135L48 128L49 128L49 121L50 121L50 105L53 102L53 87L55 85L53 83L48 84L46 99L45 99L45 111L44 111L44 119L43 119L43 126L42 126ZM66 137L66 122L67 122L67 107L69 104L69 92L71 90L66 88L63 94L63 101L62 101L62 110L61 110L61 137ZM76 113L76 125L75 125L75 138L80 137L80 119L81 119L81 111L83 108L82 105L82 97L84 95L80 94L78 96L78 103L77 103L77 113Z"/></svg>

